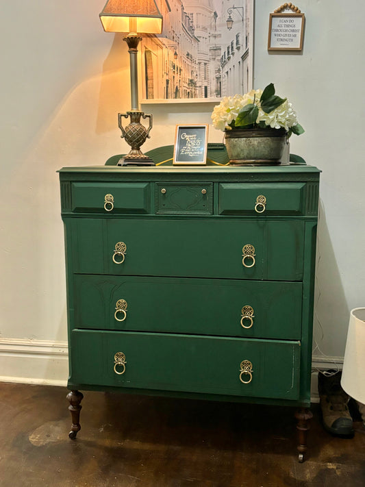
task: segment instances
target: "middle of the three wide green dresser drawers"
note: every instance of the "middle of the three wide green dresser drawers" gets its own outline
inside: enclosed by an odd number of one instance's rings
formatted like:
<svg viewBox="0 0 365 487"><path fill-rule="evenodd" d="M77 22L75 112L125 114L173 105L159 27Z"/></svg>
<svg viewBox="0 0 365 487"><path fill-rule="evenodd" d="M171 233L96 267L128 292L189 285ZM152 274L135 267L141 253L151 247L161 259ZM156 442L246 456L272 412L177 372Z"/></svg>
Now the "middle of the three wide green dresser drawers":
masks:
<svg viewBox="0 0 365 487"><path fill-rule="evenodd" d="M74 328L301 337L302 284L74 276Z"/></svg>

